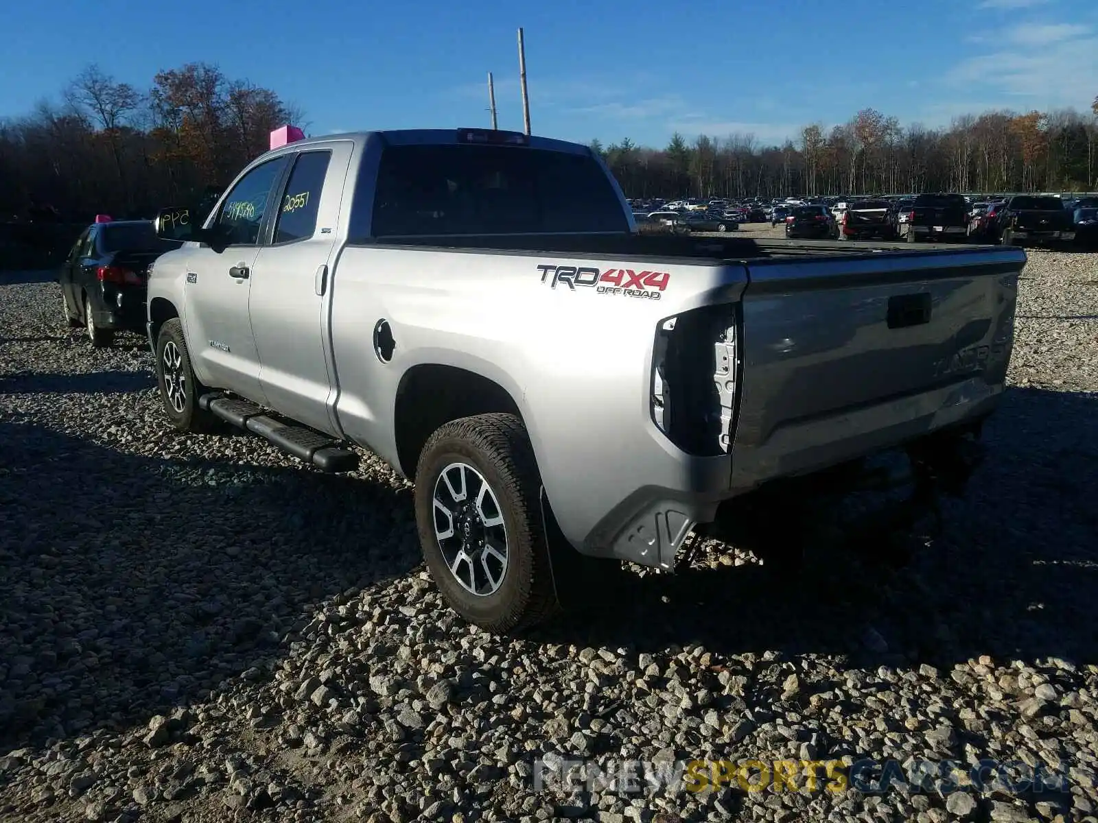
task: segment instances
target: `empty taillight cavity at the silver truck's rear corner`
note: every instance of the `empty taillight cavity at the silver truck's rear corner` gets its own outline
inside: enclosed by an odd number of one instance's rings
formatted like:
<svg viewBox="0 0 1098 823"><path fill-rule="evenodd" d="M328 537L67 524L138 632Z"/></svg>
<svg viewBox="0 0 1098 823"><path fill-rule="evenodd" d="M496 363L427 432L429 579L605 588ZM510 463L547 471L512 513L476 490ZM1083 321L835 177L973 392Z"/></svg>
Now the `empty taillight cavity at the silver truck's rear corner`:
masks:
<svg viewBox="0 0 1098 823"><path fill-rule="evenodd" d="M656 330L652 422L679 449L727 454L739 387L739 306L718 304L664 318Z"/></svg>

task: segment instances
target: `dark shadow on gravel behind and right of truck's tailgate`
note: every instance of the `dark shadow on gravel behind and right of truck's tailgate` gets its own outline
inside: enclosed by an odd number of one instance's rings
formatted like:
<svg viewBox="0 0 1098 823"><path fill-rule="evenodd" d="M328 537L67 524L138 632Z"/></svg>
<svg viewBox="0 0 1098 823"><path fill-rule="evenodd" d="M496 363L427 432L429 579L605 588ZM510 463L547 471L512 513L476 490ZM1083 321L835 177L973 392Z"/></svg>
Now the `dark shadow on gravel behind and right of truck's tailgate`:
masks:
<svg viewBox="0 0 1098 823"><path fill-rule="evenodd" d="M1098 394L1008 390L985 442L966 498L943 504L944 532L900 563L840 542L809 546L799 574L750 563L621 575L597 605L534 638L847 655L860 666L985 654L1098 663Z"/></svg>

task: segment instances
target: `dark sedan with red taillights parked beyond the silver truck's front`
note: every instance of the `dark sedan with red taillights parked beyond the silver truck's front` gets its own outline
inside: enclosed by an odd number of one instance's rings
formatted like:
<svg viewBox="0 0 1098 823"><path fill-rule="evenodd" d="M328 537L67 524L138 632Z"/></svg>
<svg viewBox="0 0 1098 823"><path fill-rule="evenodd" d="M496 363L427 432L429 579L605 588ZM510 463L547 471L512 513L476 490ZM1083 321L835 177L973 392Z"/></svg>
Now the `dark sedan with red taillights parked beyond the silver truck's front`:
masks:
<svg viewBox="0 0 1098 823"><path fill-rule="evenodd" d="M158 238L152 221L88 226L57 278L66 323L83 326L97 348L110 346L115 331L143 332L148 268L180 245Z"/></svg>

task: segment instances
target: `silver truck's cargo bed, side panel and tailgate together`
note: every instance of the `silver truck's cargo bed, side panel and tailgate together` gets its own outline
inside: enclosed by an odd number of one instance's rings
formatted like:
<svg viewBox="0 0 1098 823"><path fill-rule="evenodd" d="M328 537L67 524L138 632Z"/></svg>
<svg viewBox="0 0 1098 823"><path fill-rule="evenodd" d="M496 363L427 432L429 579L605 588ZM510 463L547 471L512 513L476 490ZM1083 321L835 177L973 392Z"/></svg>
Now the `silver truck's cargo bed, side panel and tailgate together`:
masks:
<svg viewBox="0 0 1098 823"><path fill-rule="evenodd" d="M574 274L589 260L595 272L668 272L666 289L658 300L596 296L551 288L544 273ZM739 237L350 244L333 324L354 345L335 361L349 382L359 363L370 367L351 329L362 324L359 294L382 291L404 357L460 351L453 362L470 371L502 362L486 373L522 398L547 494L568 512L561 528L594 552L626 540L627 520L673 508L704 522L729 495L990 412L1024 263L1022 250L1002 246ZM669 318L687 316L697 322L677 323L668 342L683 352L669 367L672 446L650 415L652 346ZM715 358L728 341L737 362L721 372ZM371 442L361 405L341 399L340 419ZM614 456L592 461L596 453Z"/></svg>

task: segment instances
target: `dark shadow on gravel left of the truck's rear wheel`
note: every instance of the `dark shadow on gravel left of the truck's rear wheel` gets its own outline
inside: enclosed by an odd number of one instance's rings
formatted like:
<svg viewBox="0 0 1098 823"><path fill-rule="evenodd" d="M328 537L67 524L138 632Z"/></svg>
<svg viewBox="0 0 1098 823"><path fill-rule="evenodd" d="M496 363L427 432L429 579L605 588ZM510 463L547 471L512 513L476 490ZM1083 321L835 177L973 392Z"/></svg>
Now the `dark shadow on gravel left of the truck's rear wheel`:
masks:
<svg viewBox="0 0 1098 823"><path fill-rule="evenodd" d="M0 419L0 751L266 677L315 605L418 561L407 492Z"/></svg>

